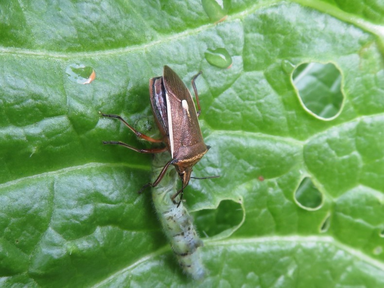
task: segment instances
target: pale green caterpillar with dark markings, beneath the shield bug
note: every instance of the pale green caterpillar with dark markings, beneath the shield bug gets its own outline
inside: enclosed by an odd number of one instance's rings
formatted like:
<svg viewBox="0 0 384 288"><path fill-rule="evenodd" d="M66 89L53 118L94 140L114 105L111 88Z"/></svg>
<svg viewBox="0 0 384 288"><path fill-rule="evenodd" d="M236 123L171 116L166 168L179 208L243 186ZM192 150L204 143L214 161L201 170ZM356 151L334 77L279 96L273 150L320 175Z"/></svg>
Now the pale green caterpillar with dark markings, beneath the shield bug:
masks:
<svg viewBox="0 0 384 288"><path fill-rule="evenodd" d="M153 160L154 179L157 178L164 164L169 161L168 153L155 154ZM199 247L203 241L199 238L193 227L192 217L181 202L180 206L171 200L177 191L180 179L175 169L168 169L160 183L152 188L152 198L157 215L160 219L164 233L171 242L180 266L186 274L193 279L201 279L205 275L201 263Z"/></svg>

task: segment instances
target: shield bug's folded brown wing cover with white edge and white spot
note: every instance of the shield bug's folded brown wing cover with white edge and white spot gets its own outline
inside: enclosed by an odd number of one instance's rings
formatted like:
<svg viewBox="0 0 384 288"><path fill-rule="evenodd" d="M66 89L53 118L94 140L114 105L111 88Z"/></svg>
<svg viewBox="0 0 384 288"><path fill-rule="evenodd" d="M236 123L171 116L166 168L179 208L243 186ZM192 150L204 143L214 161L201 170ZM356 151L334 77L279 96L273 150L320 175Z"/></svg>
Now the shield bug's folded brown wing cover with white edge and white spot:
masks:
<svg viewBox="0 0 384 288"><path fill-rule="evenodd" d="M172 126L170 142L173 143L173 151L177 152L180 146L204 143L190 91L180 77L168 66L164 66L163 79L168 98L168 114L170 114L169 111L172 114L172 118L168 118L168 120L171 124L169 125L170 129Z"/></svg>

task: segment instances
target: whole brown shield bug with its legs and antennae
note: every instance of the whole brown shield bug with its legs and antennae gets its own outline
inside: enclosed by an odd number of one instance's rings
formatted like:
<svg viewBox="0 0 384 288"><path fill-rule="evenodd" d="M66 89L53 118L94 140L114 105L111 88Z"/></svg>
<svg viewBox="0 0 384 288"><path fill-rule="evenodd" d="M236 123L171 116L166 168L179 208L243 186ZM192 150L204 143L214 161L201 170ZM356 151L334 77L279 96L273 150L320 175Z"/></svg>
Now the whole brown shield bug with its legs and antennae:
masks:
<svg viewBox="0 0 384 288"><path fill-rule="evenodd" d="M102 113L105 117L119 119L138 137L152 143L164 143L165 147L138 149L120 141L104 141L104 144L118 144L140 153L160 153L167 150L171 153L172 159L165 164L155 182L145 184L139 193L148 186L157 186L164 177L169 165L172 164L175 166L181 179L181 189L172 196L172 200L174 201L177 195L181 193L180 201L178 202L178 205L180 205L184 188L188 185L190 179L194 178L191 177L193 165L199 162L210 148L204 143L199 121L197 120L201 108L195 80L200 74L201 72L197 73L192 79L192 87L196 96L198 111L196 111L192 95L188 88L180 77L168 66L164 66L163 76L154 77L149 80L152 111L162 139L157 140L142 134L118 115ZM195 179L215 177L218 176Z"/></svg>

